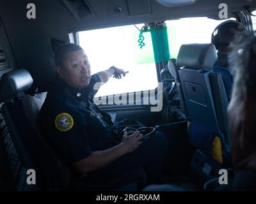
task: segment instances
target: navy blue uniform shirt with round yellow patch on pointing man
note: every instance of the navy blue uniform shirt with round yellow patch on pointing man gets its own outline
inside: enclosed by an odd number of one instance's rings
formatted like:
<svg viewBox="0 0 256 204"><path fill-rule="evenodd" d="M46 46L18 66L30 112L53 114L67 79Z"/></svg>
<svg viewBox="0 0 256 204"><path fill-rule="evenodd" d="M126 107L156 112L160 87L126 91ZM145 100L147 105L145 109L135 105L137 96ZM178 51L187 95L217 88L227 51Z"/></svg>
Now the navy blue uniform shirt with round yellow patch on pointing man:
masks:
<svg viewBox="0 0 256 204"><path fill-rule="evenodd" d="M96 82L101 82L99 75L92 75L88 87L79 90L58 79L40 110L45 139L67 163L116 145L111 117L93 103Z"/></svg>

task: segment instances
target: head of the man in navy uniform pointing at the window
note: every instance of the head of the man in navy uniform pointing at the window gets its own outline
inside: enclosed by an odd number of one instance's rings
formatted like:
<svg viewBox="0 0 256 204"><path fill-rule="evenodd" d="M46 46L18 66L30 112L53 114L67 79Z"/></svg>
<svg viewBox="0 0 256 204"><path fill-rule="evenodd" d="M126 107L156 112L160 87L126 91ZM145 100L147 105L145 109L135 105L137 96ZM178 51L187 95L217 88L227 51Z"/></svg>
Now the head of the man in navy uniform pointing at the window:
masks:
<svg viewBox="0 0 256 204"><path fill-rule="evenodd" d="M83 48L74 43L61 45L55 53L56 73L64 82L77 89L88 86L91 68Z"/></svg>

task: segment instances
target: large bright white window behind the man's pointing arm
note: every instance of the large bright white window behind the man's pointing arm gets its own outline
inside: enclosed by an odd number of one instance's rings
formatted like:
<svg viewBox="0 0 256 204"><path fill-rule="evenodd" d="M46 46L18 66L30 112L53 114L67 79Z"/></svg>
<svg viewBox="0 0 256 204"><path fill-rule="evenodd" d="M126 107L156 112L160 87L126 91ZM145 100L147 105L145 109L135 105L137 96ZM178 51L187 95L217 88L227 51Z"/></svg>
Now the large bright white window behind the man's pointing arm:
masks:
<svg viewBox="0 0 256 204"><path fill-rule="evenodd" d="M136 26L141 29L143 25ZM156 64L151 60L154 59L151 36L150 33L143 33L145 47L140 49L139 34L134 25L78 33L79 45L88 55L92 74L111 66L129 71L122 80L111 78L100 87L95 97L156 89L157 73ZM147 57L150 55L148 60L143 56L146 52Z"/></svg>

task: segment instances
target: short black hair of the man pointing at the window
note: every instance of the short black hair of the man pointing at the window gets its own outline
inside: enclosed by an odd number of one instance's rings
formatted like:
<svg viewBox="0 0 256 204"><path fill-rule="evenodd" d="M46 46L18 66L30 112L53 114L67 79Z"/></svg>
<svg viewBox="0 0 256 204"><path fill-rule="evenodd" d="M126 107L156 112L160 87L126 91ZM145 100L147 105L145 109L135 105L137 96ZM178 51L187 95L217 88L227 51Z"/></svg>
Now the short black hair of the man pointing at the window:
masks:
<svg viewBox="0 0 256 204"><path fill-rule="evenodd" d="M56 66L62 66L62 62L64 61L65 54L67 54L68 52L78 51L78 50L83 50L83 48L81 48L79 45L74 43L64 43L60 45L60 47L58 47L55 52Z"/></svg>

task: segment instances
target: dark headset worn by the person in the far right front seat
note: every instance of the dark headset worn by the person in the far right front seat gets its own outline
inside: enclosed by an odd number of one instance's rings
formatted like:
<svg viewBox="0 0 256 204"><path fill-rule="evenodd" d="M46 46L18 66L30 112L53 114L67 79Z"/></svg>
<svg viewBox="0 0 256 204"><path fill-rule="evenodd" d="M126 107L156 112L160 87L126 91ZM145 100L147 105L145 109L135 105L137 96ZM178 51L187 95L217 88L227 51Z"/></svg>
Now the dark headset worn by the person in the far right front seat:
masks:
<svg viewBox="0 0 256 204"><path fill-rule="evenodd" d="M215 45L216 50L218 50L220 45L228 45L227 40L220 36L221 31L226 27L229 27L230 29L234 28L236 31L241 31L241 33L243 33L243 39L248 35L248 30L243 24L241 24L241 22L237 22L236 20L227 20L218 25L212 32L211 41ZM241 39L241 41L243 41L243 39Z"/></svg>

